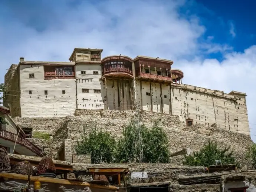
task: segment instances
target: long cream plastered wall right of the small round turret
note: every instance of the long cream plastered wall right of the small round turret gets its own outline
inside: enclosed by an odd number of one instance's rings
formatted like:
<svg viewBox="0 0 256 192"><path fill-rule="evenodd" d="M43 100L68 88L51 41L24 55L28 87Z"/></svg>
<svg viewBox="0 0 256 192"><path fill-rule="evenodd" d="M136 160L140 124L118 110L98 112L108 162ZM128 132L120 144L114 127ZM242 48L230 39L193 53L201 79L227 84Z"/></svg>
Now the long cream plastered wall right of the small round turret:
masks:
<svg viewBox="0 0 256 192"><path fill-rule="evenodd" d="M184 86L187 90L179 88ZM173 115L178 115L181 121L186 122L186 119L190 118L194 124L201 123L207 127L216 123L219 128L249 135L244 97L237 100L236 104L230 99L234 98L233 95L220 91L209 95L206 93L213 93L214 90L184 84L172 86L171 92Z"/></svg>

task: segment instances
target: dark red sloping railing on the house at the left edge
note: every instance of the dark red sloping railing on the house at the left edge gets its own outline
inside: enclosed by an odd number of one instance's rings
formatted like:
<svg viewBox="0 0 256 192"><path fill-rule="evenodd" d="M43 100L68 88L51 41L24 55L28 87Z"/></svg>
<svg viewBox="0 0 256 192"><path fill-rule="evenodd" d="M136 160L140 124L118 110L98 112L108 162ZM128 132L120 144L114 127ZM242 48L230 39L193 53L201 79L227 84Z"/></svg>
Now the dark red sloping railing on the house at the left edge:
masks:
<svg viewBox="0 0 256 192"><path fill-rule="evenodd" d="M17 143L20 145L25 145L27 148L33 150L33 152L35 152L37 155L41 156L42 155L42 150L37 147L36 145L34 145L32 142L30 142L29 140L27 140L26 138L23 138L21 136L19 136L17 138L17 134L6 131L6 130L0 130L0 137L12 140L12 141L16 141L17 139Z"/></svg>

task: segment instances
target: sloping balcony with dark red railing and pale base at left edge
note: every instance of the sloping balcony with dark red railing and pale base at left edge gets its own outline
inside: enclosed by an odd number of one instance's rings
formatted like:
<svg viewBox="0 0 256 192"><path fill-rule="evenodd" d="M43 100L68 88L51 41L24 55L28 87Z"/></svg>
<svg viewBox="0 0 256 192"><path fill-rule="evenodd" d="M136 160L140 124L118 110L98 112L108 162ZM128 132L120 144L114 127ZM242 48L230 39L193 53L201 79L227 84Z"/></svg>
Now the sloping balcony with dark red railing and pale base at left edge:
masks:
<svg viewBox="0 0 256 192"><path fill-rule="evenodd" d="M17 134L6 131L0 130L0 143L3 146L7 147L14 147L15 141L15 151L19 152L21 155L30 155L30 156L42 156L42 150L34 145L32 142L19 136L17 138Z"/></svg>

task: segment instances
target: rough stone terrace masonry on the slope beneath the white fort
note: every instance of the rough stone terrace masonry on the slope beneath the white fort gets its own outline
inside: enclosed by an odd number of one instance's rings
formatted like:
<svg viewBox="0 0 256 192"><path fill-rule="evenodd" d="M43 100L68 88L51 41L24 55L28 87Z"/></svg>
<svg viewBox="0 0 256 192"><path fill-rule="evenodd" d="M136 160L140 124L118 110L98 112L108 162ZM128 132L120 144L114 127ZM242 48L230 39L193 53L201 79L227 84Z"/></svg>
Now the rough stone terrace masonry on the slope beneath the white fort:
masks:
<svg viewBox="0 0 256 192"><path fill-rule="evenodd" d="M30 125L39 130L49 130L53 133L52 151L57 153L64 139L69 139L71 145L71 156L75 154L76 141L81 139L85 131L88 133L91 128L106 130L115 138L122 135L124 125L127 125L135 117L135 111L121 110L76 110L75 116L66 116L63 118L15 118L14 121L20 126ZM45 119L45 124L43 124ZM140 119L147 127L151 127L155 120L158 120L163 127L169 141L170 152L190 147L191 152L199 150L204 143L209 140L217 142L222 148L230 146L234 150L234 155L239 158L245 150L253 143L249 135L232 132L226 129L218 128L215 124L206 126L196 124L186 127L178 116L140 111ZM52 121L52 124L50 123ZM44 127L45 126L45 127ZM172 160L173 164L181 164L183 156L176 156ZM243 159L242 164L247 164Z"/></svg>

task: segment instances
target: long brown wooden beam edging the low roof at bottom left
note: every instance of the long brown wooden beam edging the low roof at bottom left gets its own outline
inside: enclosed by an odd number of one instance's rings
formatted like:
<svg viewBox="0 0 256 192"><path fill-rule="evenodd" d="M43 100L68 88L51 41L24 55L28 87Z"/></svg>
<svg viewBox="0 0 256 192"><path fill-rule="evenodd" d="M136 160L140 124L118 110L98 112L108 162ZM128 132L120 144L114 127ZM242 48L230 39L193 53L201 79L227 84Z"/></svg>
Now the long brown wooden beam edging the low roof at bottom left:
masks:
<svg viewBox="0 0 256 192"><path fill-rule="evenodd" d="M27 175L20 175L16 173L0 173L0 178L9 178L9 179L20 179L20 180L28 180ZM69 181L66 179L55 179L55 178L47 178L47 177L40 177L40 176L30 176L30 181L40 181L40 182L48 182L48 183L57 183L62 185L79 185L79 186L88 186L91 188L99 188L99 189L109 189L112 191L117 190L118 188L115 186L101 186L90 184L86 182L78 182L78 181Z"/></svg>

